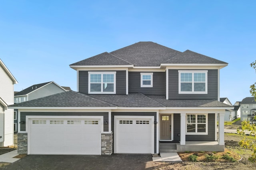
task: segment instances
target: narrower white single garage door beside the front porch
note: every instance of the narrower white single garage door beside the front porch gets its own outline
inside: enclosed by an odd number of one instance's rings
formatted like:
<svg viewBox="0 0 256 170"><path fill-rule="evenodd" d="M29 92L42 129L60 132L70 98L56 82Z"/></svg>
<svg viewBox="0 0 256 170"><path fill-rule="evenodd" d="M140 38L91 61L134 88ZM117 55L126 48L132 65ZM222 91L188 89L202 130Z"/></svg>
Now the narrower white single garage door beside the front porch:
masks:
<svg viewBox="0 0 256 170"><path fill-rule="evenodd" d="M154 117L116 118L116 153L154 153Z"/></svg>

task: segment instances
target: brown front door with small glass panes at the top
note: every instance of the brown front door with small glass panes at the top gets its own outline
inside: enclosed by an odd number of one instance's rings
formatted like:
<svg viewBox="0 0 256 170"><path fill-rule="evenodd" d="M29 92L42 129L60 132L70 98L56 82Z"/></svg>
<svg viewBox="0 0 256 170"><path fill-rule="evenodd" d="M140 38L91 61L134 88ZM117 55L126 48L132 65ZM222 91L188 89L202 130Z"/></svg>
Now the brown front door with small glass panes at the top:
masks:
<svg viewBox="0 0 256 170"><path fill-rule="evenodd" d="M160 115L160 140L171 140L171 115Z"/></svg>

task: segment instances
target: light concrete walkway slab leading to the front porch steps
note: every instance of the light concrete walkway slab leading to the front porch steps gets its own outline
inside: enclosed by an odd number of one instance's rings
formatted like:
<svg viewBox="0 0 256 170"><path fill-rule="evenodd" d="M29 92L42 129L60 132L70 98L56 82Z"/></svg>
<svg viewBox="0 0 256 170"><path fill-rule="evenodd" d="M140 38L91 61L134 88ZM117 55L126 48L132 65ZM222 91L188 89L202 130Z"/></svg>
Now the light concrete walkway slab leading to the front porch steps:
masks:
<svg viewBox="0 0 256 170"><path fill-rule="evenodd" d="M153 157L156 162L182 162L180 156L176 152L162 152L161 157Z"/></svg>

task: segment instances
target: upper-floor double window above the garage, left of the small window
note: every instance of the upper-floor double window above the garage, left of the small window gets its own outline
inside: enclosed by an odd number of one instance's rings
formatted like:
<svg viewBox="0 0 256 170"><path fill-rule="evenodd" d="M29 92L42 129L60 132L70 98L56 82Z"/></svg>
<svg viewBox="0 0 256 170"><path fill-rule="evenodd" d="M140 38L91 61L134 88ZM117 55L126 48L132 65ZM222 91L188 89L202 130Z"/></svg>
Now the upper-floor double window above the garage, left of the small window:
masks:
<svg viewBox="0 0 256 170"><path fill-rule="evenodd" d="M116 93L116 71L89 71L88 74L88 93Z"/></svg>

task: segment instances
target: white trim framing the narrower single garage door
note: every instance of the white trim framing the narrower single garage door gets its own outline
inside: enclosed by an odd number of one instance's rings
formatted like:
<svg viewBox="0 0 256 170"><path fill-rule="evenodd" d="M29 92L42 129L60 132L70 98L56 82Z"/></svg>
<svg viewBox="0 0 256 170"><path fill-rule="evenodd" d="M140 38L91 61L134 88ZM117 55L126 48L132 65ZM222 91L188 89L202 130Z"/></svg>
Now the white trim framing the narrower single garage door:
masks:
<svg viewBox="0 0 256 170"><path fill-rule="evenodd" d="M116 134L116 125L118 119L151 119L151 154L154 154L154 116L114 116L114 132ZM118 143L117 135L114 135L114 153L117 153L116 146Z"/></svg>

